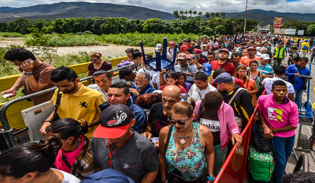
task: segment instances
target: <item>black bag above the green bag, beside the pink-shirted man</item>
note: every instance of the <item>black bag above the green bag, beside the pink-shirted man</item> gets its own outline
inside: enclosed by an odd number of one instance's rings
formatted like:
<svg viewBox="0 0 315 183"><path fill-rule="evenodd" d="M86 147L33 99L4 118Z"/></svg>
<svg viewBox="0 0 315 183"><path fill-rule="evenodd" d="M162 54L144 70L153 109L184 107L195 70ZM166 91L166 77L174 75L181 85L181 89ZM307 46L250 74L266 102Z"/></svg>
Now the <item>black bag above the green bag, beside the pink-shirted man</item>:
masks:
<svg viewBox="0 0 315 183"><path fill-rule="evenodd" d="M256 121L253 127L251 143L259 153L273 151L273 140L265 137L264 129L259 120Z"/></svg>

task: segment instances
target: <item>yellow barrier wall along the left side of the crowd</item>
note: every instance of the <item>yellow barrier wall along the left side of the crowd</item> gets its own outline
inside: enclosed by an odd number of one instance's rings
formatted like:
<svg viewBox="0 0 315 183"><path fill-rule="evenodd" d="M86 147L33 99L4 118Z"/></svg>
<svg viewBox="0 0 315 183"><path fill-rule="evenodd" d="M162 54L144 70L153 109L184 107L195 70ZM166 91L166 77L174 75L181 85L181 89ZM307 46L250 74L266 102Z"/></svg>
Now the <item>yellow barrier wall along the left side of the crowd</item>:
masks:
<svg viewBox="0 0 315 183"><path fill-rule="evenodd" d="M153 55L153 52L149 52L146 54L150 54ZM121 63L122 60L126 60L127 57L120 57L120 58L114 58L114 59L110 59L110 63L112 64L112 66L117 66L117 64ZM90 64L90 62L88 63L82 63L82 64L75 64L75 65L71 65L71 66L67 66L71 69L73 69L75 71L75 73L79 74L79 73L86 73L88 72L88 65ZM114 73L115 76L118 75L118 72ZM13 84L15 83L15 81L21 76L22 74L17 74L17 75L10 75L10 76L6 76L6 77L0 77L0 91L5 91L10 89ZM87 81L82 81L80 82L82 84L84 84L85 86L87 85ZM0 104L0 108L4 105L5 103ZM25 123L22 117L22 110L26 110L29 108L32 108L33 104L32 102L29 101L22 101L22 102L18 102L13 104L12 106L10 106L8 108L8 110L6 110L6 116L8 118L8 121L10 123L10 126L12 128L16 128L16 129L23 129L25 128Z"/></svg>

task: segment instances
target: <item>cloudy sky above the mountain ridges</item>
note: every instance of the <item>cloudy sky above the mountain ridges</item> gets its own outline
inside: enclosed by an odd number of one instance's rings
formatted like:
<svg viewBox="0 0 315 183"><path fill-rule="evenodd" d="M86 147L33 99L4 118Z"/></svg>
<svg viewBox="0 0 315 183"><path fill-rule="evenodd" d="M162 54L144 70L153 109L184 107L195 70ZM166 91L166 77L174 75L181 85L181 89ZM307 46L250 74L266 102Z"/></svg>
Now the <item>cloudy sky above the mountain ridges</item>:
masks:
<svg viewBox="0 0 315 183"><path fill-rule="evenodd" d="M142 6L172 13L174 10L197 10L205 12L242 12L246 0L63 0L103 2ZM27 7L36 4L52 4L59 0L1 0L0 6ZM254 3L258 3L255 5ZM253 4L253 5L251 5ZM315 0L248 0L249 9L274 10L278 12L315 13Z"/></svg>

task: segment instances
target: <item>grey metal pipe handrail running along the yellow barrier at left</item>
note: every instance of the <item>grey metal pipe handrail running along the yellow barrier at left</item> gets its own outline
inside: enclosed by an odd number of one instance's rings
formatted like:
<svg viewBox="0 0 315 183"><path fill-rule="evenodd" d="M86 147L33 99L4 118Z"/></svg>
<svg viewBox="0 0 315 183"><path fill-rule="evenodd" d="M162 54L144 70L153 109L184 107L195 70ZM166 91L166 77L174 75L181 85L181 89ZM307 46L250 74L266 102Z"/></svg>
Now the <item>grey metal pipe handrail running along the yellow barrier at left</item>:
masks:
<svg viewBox="0 0 315 183"><path fill-rule="evenodd" d="M128 68L130 66L135 66L136 70L138 71L137 64L129 64L127 66L123 66L123 67L120 67L120 68L117 68L117 69L113 69L113 70L107 71L107 73L118 71L118 70L120 70L122 68ZM92 77L93 76L89 76L89 77L85 77L83 79L80 79L80 82L88 80L88 79L92 79ZM9 102L5 103L2 106L2 108L0 109L0 121L1 121L3 129L0 130L0 151L8 149L8 146L7 146L6 142L5 142L5 139L8 140L10 147L13 147L13 146L16 145L16 142L14 140L14 136L13 136L13 133L12 133L13 129L10 127L10 124L9 124L8 119L6 117L6 114L5 114L6 110L12 104L15 104L17 102L21 102L21 101L24 101L24 100L30 99L32 97L36 97L36 96L48 93L48 92L55 91L56 89L57 89L57 87L53 87L53 88L49 88L47 90L43 90L43 91L40 91L40 92L36 92L36 93L30 94L30 95L24 96L24 97L20 97L20 98L17 98L17 99L9 101ZM23 129L23 130L25 130L25 129Z"/></svg>

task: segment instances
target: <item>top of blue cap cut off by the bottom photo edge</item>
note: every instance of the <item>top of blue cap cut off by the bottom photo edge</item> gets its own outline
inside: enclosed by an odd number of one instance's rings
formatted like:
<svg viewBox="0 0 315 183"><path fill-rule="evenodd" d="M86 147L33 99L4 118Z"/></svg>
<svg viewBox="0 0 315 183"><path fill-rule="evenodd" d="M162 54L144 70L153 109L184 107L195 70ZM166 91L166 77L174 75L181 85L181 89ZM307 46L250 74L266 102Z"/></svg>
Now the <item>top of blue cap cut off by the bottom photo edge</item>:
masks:
<svg viewBox="0 0 315 183"><path fill-rule="evenodd" d="M86 176L80 183L134 183L132 179L114 169L105 169Z"/></svg>

